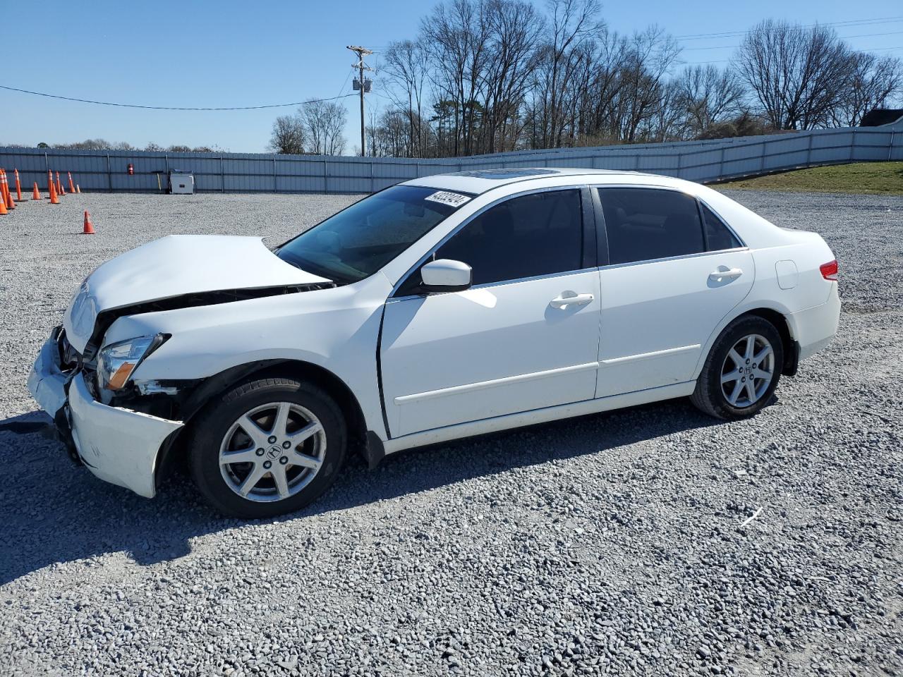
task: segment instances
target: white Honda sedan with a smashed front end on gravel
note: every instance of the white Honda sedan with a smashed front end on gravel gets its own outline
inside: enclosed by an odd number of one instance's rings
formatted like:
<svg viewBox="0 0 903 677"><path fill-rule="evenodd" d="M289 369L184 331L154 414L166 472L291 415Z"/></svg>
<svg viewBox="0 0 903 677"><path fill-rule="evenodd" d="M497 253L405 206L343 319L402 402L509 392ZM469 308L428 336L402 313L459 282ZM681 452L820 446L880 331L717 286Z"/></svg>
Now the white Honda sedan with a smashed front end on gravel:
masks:
<svg viewBox="0 0 903 677"><path fill-rule="evenodd" d="M29 388L73 459L224 513L297 510L387 454L690 397L768 404L832 339L837 262L687 181L515 169L407 181L270 250L168 236L101 265Z"/></svg>

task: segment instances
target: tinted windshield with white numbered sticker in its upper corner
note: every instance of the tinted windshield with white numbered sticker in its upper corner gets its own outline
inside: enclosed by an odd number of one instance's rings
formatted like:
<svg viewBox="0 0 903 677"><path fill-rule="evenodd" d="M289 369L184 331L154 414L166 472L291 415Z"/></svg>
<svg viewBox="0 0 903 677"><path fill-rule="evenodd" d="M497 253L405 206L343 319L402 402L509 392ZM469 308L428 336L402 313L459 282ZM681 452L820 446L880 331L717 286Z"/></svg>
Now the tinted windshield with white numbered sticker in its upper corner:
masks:
<svg viewBox="0 0 903 677"><path fill-rule="evenodd" d="M448 217L470 195L393 186L355 202L279 247L283 261L336 283L377 272Z"/></svg>

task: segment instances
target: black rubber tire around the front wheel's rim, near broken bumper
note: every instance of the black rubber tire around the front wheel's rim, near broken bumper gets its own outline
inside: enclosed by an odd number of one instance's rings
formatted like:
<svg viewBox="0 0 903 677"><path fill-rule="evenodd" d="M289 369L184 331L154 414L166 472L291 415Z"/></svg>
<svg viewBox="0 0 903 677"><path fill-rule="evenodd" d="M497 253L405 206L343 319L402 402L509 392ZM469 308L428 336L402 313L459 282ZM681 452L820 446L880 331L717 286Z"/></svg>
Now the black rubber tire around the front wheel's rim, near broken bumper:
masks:
<svg viewBox="0 0 903 677"><path fill-rule="evenodd" d="M321 465L312 478L306 481L303 487L296 490L297 493L283 499L273 496L268 502L258 502L239 496L228 483L228 479L224 477L224 474L228 474L232 468L239 468L240 472L242 468L253 468L253 464L257 461L244 465L231 465L227 467L228 470L221 470L219 453L224 438L232 430L233 425L237 424L239 417L258 407L265 407L269 403L295 404L316 417L321 424L322 431L322 435L317 433L318 441L316 442L321 445L319 452ZM273 425L275 429L275 419ZM287 430L288 426L285 429ZM235 435L236 433L231 434ZM191 475L201 495L207 499L210 505L226 515L247 519L284 515L311 504L332 485L345 460L347 439L347 428L339 406L321 388L286 378L264 378L249 381L237 385L209 403L192 423L189 438ZM290 442L285 441L285 445L285 448L288 449ZM252 446L256 445L252 444ZM278 446L280 445L274 445L274 450ZM299 449L301 448L299 447ZM263 451L263 449L256 451ZM284 453L289 454L294 451L292 449ZM257 456L261 459L266 458L259 453ZM275 457L273 458L275 459ZM279 462L280 459L275 460L275 463ZM284 473L293 471L303 474L305 472L300 466L286 465L285 468ZM247 473L250 474L250 470L247 470ZM259 481L269 482L272 485L270 491L276 491L275 475L265 475ZM252 489L253 492L254 489Z"/></svg>

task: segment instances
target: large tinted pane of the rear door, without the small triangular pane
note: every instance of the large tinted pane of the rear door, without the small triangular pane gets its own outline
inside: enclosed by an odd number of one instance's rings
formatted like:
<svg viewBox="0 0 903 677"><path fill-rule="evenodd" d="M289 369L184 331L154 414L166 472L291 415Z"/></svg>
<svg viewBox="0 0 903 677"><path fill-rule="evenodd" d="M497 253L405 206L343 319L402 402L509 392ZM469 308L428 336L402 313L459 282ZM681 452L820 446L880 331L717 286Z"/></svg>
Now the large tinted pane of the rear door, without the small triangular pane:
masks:
<svg viewBox="0 0 903 677"><path fill-rule="evenodd" d="M705 251L696 199L675 190L600 188L609 263L630 264Z"/></svg>

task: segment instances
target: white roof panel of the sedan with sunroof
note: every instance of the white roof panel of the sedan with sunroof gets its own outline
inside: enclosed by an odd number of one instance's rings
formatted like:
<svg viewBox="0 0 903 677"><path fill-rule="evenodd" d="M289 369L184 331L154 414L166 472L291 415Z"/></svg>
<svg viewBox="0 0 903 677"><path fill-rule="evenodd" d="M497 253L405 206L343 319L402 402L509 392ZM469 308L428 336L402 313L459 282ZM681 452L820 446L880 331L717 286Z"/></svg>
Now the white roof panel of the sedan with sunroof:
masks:
<svg viewBox="0 0 903 677"><path fill-rule="evenodd" d="M591 181L610 182L610 181L628 181L647 183L648 181L637 181L641 177L655 178L656 180L670 183L677 180L671 177L656 174L647 174L642 172L627 172L620 170L594 170L580 168L563 168L563 167L515 167L515 168L498 168L498 169L480 169L470 170L466 172L447 172L442 174L432 174L430 176L422 176L411 181L405 181L405 186L424 186L427 188L437 188L442 190L457 190L465 193L479 195L487 190L493 190L502 186L507 186L520 181L532 181L537 179L552 179L555 177L587 177Z"/></svg>

